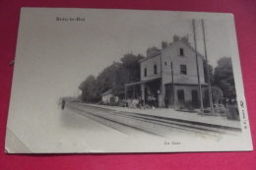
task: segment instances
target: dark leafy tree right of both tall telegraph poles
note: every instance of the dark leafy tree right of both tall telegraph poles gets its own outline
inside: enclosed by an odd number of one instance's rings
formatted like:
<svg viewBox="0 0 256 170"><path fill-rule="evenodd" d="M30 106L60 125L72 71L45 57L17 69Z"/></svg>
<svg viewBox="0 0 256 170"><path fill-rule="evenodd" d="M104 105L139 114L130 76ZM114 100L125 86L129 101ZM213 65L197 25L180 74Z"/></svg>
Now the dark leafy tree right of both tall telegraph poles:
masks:
<svg viewBox="0 0 256 170"><path fill-rule="evenodd" d="M218 66L215 68L214 85L219 86L223 92L224 97L236 97L233 70L230 57L223 57L218 60Z"/></svg>

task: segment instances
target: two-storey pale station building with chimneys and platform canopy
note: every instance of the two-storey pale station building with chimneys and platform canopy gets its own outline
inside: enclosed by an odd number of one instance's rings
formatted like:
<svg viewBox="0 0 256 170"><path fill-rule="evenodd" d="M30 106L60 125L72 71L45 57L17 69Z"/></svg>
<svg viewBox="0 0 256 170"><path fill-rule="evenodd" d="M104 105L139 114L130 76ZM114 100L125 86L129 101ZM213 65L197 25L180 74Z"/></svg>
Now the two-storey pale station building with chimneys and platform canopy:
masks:
<svg viewBox="0 0 256 170"><path fill-rule="evenodd" d="M205 100L208 86L204 77L204 56L190 45L188 36L180 38L176 35L172 43L161 49L153 47L147 50L147 57L140 61L140 82L125 85L125 97L141 97L147 103L149 96L153 96L159 107L165 106L165 97L168 106L175 109L200 107L196 54ZM128 88L133 89L130 96Z"/></svg>

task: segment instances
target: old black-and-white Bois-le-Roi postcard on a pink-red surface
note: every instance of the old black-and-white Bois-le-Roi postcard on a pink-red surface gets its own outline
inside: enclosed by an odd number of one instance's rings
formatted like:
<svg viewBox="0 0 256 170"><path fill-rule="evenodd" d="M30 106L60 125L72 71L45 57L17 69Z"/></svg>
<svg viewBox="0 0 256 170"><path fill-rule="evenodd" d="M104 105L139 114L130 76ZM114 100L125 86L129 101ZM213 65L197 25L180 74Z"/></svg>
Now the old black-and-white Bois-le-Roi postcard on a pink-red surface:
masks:
<svg viewBox="0 0 256 170"><path fill-rule="evenodd" d="M21 9L7 153L252 149L231 14Z"/></svg>

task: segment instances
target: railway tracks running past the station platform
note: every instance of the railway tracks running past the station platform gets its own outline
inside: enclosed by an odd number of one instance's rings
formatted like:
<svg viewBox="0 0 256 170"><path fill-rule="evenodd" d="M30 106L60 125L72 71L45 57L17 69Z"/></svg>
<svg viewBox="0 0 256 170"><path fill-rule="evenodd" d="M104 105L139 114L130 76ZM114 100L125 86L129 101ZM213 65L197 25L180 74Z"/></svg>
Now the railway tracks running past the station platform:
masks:
<svg viewBox="0 0 256 170"><path fill-rule="evenodd" d="M106 109L79 103L69 103L67 107L117 131L122 131L120 127L125 126L164 138L173 138L173 135L179 134L196 134L198 136L211 136L216 138L220 138L224 135L238 136L241 134L240 129L236 128L211 126L203 123L181 121L159 116L116 111L110 108Z"/></svg>

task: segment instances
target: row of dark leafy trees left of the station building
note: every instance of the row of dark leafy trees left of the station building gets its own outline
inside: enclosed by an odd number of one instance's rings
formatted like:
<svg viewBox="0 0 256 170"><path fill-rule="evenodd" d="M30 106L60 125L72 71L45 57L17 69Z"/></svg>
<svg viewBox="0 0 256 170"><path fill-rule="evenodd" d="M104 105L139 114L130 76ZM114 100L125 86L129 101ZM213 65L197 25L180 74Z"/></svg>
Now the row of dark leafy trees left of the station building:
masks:
<svg viewBox="0 0 256 170"><path fill-rule="evenodd" d="M79 88L83 91L82 98L87 102L98 101L101 94L108 89L115 95L124 94L125 84L140 81L140 60L142 55L132 53L125 54L121 58L121 63L113 62L110 66L103 69L95 78L89 76Z"/></svg>

